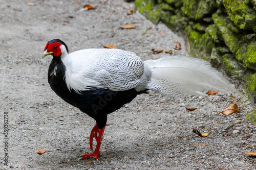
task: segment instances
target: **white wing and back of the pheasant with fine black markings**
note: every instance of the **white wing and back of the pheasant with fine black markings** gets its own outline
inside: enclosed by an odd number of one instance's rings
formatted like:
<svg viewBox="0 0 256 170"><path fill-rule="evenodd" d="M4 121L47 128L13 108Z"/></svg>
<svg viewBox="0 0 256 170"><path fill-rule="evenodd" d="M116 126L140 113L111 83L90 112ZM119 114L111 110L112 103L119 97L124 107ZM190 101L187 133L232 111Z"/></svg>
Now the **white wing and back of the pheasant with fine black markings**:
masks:
<svg viewBox="0 0 256 170"><path fill-rule="evenodd" d="M144 71L143 62L135 53L119 49L80 50L70 57L72 66L66 66L66 82L77 91L91 87L132 89L139 85Z"/></svg>

